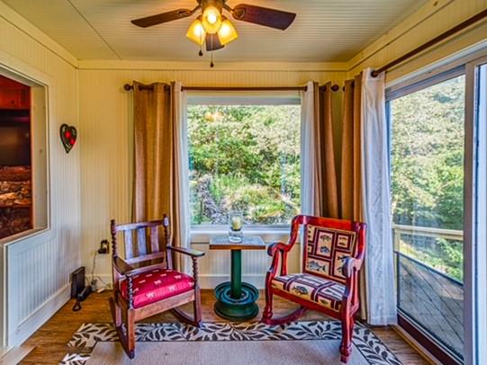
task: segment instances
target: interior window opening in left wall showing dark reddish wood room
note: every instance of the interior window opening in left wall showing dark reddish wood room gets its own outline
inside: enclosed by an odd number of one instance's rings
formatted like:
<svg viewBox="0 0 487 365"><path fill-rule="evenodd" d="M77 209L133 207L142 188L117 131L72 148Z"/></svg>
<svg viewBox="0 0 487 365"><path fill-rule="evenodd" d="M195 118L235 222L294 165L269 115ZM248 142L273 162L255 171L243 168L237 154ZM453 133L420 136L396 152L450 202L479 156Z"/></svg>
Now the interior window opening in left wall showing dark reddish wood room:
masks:
<svg viewBox="0 0 487 365"><path fill-rule="evenodd" d="M2 242L48 226L45 95L44 86L0 70Z"/></svg>

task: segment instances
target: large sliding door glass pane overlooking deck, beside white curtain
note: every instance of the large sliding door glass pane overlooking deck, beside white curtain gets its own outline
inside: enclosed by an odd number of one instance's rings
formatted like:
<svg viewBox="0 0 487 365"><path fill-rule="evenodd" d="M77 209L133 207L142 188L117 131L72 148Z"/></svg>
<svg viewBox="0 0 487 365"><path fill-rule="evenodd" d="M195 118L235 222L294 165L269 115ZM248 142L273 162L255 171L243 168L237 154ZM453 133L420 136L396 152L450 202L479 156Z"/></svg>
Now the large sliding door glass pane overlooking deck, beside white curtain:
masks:
<svg viewBox="0 0 487 365"><path fill-rule="evenodd" d="M429 79L389 100L398 308L410 325L461 360L463 70Z"/></svg>

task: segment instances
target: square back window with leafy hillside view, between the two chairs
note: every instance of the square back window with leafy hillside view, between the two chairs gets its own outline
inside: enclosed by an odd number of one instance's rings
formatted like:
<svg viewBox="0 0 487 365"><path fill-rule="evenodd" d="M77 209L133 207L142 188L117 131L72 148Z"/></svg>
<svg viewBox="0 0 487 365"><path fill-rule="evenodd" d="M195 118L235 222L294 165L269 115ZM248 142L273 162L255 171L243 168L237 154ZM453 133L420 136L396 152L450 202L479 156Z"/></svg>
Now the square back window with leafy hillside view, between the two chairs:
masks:
<svg viewBox="0 0 487 365"><path fill-rule="evenodd" d="M299 98L189 98L193 226L288 225L301 209Z"/></svg>

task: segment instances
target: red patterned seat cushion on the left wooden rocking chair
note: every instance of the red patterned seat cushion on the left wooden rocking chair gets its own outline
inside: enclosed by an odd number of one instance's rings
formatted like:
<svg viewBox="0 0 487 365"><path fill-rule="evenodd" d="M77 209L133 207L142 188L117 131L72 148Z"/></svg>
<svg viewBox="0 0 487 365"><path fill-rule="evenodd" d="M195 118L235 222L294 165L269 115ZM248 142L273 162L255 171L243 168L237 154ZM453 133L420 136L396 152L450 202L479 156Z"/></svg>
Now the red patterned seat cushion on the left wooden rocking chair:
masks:
<svg viewBox="0 0 487 365"><path fill-rule="evenodd" d="M120 282L122 297L127 299L127 280ZM133 277L133 307L140 308L194 289L191 276L171 269L154 269Z"/></svg>

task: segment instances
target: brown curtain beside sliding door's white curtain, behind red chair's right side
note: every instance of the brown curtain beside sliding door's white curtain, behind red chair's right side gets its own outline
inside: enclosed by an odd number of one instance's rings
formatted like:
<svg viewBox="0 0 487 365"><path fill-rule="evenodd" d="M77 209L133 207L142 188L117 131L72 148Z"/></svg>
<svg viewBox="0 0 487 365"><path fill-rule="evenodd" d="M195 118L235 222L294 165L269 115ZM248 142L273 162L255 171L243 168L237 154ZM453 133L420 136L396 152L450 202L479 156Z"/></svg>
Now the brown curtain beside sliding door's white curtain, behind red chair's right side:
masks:
<svg viewBox="0 0 487 365"><path fill-rule="evenodd" d="M341 147L340 218L363 221L361 196L362 74L345 82ZM365 265L360 271L360 316L366 317Z"/></svg>

